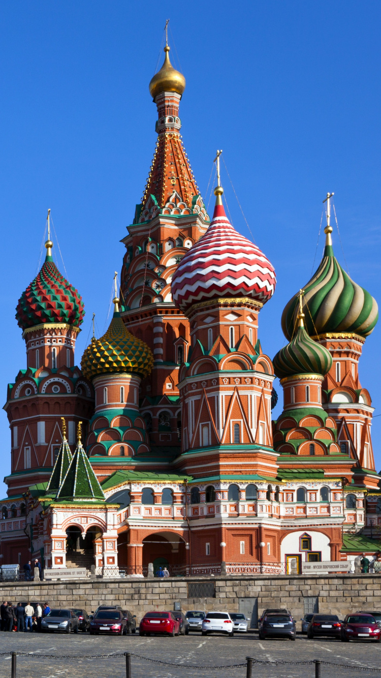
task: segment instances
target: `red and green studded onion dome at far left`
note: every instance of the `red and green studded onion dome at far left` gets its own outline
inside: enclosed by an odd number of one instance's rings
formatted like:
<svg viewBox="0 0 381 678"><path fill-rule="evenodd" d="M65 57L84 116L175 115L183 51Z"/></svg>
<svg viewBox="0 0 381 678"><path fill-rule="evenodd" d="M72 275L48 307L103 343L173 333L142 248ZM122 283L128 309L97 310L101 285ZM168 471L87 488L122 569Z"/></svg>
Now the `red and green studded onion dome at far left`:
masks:
<svg viewBox="0 0 381 678"><path fill-rule="evenodd" d="M69 283L52 258L53 243L45 242L47 254L37 277L22 292L16 320L22 330L43 323L66 323L79 327L85 315L82 297Z"/></svg>

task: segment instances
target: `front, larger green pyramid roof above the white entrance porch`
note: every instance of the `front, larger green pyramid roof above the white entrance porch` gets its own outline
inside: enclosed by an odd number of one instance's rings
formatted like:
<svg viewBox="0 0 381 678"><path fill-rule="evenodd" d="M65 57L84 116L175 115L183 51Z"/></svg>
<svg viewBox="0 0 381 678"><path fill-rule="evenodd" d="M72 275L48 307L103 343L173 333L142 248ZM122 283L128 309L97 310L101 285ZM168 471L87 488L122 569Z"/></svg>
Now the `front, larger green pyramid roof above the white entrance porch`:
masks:
<svg viewBox="0 0 381 678"><path fill-rule="evenodd" d="M56 500L63 499L69 501L105 499L102 487L80 442L57 492Z"/></svg>

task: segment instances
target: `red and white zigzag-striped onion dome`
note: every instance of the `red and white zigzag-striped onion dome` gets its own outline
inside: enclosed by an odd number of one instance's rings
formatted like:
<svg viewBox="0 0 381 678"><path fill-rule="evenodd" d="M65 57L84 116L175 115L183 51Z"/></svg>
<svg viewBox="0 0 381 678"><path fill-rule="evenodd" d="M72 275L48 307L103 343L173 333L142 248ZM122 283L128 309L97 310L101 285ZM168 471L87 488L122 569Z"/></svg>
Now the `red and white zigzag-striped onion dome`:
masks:
<svg viewBox="0 0 381 678"><path fill-rule="evenodd" d="M209 299L249 297L265 304L275 292L275 271L260 249L237 233L216 205L205 235L182 258L172 278L180 311Z"/></svg>

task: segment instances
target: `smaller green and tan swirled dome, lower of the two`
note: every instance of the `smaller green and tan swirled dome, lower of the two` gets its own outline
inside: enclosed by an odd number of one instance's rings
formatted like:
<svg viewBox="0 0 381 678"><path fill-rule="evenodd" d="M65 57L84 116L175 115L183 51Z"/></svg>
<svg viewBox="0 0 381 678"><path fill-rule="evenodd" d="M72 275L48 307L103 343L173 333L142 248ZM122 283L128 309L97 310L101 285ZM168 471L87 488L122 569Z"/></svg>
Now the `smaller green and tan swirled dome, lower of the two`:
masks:
<svg viewBox="0 0 381 678"><path fill-rule="evenodd" d="M302 294L300 293L299 327L296 335L287 346L278 351L273 359L274 372L279 379L294 374L321 374L325 376L332 367L332 355L327 351L327 348L310 339L304 329L301 298Z"/></svg>

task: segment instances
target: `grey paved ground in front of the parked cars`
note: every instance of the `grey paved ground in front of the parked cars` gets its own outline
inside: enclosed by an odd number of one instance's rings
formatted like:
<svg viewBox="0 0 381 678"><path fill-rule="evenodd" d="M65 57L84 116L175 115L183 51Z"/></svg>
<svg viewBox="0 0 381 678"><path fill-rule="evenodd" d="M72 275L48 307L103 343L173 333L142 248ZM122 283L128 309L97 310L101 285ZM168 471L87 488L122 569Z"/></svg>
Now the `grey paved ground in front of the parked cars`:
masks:
<svg viewBox="0 0 381 678"><path fill-rule="evenodd" d="M218 669L245 662L246 656L257 660L320 659L333 662L323 664L321 678L351 678L381 676L381 645L376 643L340 643L330 639L307 640L298 635L289 640L260 641L257 633L235 634L235 637L190 633L183 637L124 637L90 636L88 633L0 633L1 652L27 652L19 656L17 678L125 678L125 658L96 658L97 654L131 652L142 657L173 662L176 666L162 666L132 656L132 678L245 678L246 669ZM43 654L68 655L70 658L44 658ZM92 658L85 658L92 656ZM184 664L203 666L188 669ZM338 664L350 665L350 670ZM376 669L364 671L363 669ZM0 678L10 678L11 660L0 657ZM252 678L315 678L313 664L254 664Z"/></svg>

